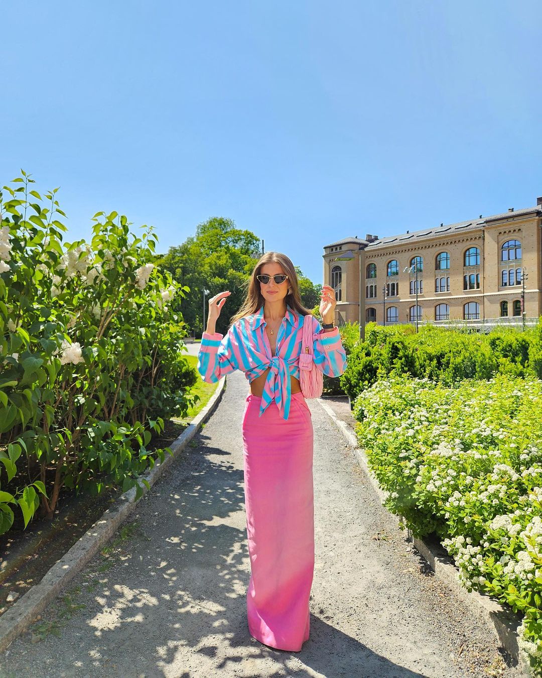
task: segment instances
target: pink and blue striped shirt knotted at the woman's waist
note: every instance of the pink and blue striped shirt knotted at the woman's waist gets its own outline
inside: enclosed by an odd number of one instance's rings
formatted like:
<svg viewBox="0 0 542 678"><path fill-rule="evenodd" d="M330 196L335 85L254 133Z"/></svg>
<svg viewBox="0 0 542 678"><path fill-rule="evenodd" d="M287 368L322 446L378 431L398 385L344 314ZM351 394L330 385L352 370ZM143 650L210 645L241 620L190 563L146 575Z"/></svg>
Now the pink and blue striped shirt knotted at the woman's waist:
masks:
<svg viewBox="0 0 542 678"><path fill-rule="evenodd" d="M346 369L346 353L339 330L324 332L313 315L306 316L312 322L314 363L320 372L336 377ZM264 330L264 306L257 313L247 315L236 322L224 337L215 332L203 332L198 357L198 372L206 382L217 382L234 370L245 372L252 382L269 374L264 384L259 416L274 400L280 415L287 419L290 413L290 376L299 379L299 353L303 336L303 319L287 305L286 315L276 334L276 355L271 355L271 346Z"/></svg>

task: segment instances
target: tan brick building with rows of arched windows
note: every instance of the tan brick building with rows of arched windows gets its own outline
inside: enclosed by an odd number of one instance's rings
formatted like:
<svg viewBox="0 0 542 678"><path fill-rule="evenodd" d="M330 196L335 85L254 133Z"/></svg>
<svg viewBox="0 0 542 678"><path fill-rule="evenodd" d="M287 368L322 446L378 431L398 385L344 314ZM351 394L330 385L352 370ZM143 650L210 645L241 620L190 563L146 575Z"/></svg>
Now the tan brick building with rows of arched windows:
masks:
<svg viewBox="0 0 542 678"><path fill-rule="evenodd" d="M523 210L326 245L336 321L533 325L542 315L541 226L539 198Z"/></svg>

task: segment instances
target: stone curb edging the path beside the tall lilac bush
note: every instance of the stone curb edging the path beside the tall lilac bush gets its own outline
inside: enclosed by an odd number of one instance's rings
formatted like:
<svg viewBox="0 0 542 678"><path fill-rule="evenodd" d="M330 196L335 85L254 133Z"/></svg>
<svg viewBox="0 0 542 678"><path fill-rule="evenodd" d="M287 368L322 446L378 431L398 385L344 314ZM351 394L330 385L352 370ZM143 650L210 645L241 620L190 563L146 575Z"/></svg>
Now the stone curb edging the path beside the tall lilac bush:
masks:
<svg viewBox="0 0 542 678"><path fill-rule="evenodd" d="M213 414L224 393L225 383L226 378L223 377L207 405L194 417L182 434L169 445L173 456L166 454L162 463L155 464L150 471L141 476L148 481L151 487L192 440L201 428L201 424ZM142 496L147 492L148 489L144 485ZM3 652L18 635L28 629L28 626L45 610L50 601L62 591L76 574L83 570L88 561L110 540L119 525L138 505L139 499L136 502L135 497L135 487L121 494L102 517L51 567L41 582L27 591L0 617L0 652Z"/></svg>

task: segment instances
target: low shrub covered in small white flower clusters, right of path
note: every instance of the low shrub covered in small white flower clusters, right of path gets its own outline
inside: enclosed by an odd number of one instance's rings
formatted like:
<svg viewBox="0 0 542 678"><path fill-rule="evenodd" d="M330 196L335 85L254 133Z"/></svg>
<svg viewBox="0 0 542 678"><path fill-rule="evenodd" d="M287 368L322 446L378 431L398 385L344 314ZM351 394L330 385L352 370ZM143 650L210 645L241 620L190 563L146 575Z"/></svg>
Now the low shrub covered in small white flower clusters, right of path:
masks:
<svg viewBox="0 0 542 678"><path fill-rule="evenodd" d="M467 589L521 612L542 671L542 381L377 382L354 405L386 506L436 532Z"/></svg>

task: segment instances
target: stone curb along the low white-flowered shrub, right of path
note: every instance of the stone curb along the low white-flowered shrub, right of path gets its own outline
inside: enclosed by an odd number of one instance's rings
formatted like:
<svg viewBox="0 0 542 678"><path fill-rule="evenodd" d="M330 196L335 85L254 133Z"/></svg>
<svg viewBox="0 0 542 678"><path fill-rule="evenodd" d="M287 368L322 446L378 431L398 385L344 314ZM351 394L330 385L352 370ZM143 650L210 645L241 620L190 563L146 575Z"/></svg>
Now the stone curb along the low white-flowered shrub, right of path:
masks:
<svg viewBox="0 0 542 678"><path fill-rule="evenodd" d="M341 433L343 433L348 444L352 446L356 461L359 466L361 466L364 475L371 483L371 487L373 487L373 490L383 503L387 498L388 493L382 490L375 475L369 469L367 455L364 450L358 446L358 440L352 427L340 420L333 411L333 408L325 403L325 401L319 399L319 403L327 414L329 414L333 422L335 422ZM394 513L390 513L390 516L392 516L396 525L400 528L402 526L401 518ZM444 549L442 549L442 546L440 546L438 542L430 543L428 540L413 537L411 530L408 529L407 535L409 541L413 542L418 553L428 562L434 571L435 576L448 584L451 589L459 595L465 605L469 607L471 612L486 622L489 628L495 632L495 635L504 650L518 662L522 675L530 677L532 673L530 672L528 656L520 650L520 647L518 646L517 629L521 623L520 615L514 614L511 610L506 610L505 607L487 595L482 595L477 591L471 591L469 593L464 586L461 586L461 583L459 582L459 570L457 570L451 557Z"/></svg>

